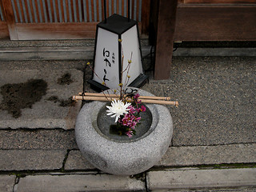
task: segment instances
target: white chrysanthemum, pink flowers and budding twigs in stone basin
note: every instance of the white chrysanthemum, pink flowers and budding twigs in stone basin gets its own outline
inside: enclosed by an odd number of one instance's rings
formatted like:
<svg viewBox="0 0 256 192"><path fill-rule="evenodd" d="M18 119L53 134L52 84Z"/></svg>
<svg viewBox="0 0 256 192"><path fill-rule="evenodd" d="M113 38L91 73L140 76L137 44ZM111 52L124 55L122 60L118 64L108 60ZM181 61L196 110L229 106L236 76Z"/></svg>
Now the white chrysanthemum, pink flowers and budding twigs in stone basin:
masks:
<svg viewBox="0 0 256 192"><path fill-rule="evenodd" d="M118 42L121 44L122 48L122 39L118 39ZM130 65L132 63L132 56L133 53L130 54L130 59L127 61L126 68L124 69L124 54L122 50L122 69L121 69L121 82L119 83L120 89L118 92L120 95L116 94L117 97L114 98L107 98L107 100L112 101L111 106L106 106L108 110L106 110L106 115L110 115L111 118L115 118L117 124L112 125L111 128L117 129L118 134L120 135L127 135L129 138L132 135L136 134L135 127L141 120L140 113L146 111L146 107L142 104L141 100L138 100L139 94L126 94L126 86L130 80L129 70ZM87 62L87 65L90 66L90 63ZM94 72L92 67L90 69ZM95 76L98 75L94 72ZM123 75L126 74L125 82L122 83ZM99 78L99 77L98 77ZM102 85L107 86L107 83L104 81ZM108 90L106 90L108 92ZM114 90L116 93L117 90ZM109 95L109 93L108 93ZM106 96L106 95L105 95Z"/></svg>

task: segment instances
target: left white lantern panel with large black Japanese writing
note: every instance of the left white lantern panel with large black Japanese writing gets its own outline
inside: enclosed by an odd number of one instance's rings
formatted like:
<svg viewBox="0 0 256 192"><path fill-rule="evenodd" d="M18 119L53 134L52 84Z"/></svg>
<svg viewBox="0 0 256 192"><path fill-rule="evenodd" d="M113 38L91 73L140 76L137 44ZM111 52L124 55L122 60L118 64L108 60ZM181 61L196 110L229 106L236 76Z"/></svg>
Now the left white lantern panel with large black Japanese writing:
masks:
<svg viewBox="0 0 256 192"><path fill-rule="evenodd" d="M118 34L98 27L93 80L115 89L119 84Z"/></svg>

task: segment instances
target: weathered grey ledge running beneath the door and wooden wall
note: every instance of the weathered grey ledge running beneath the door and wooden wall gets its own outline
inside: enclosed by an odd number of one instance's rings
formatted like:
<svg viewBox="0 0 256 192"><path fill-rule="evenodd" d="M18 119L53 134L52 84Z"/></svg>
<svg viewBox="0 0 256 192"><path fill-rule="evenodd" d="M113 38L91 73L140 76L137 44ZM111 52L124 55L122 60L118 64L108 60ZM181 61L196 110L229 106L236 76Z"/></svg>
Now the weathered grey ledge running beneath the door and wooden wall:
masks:
<svg viewBox="0 0 256 192"><path fill-rule="evenodd" d="M238 45L237 45L238 44ZM173 56L228 56L255 57L254 43L176 43ZM150 54L148 39L141 39L142 55ZM241 46L239 46L241 45ZM10 41L0 40L0 60L82 60L93 59L94 39L83 40L49 40L49 41Z"/></svg>

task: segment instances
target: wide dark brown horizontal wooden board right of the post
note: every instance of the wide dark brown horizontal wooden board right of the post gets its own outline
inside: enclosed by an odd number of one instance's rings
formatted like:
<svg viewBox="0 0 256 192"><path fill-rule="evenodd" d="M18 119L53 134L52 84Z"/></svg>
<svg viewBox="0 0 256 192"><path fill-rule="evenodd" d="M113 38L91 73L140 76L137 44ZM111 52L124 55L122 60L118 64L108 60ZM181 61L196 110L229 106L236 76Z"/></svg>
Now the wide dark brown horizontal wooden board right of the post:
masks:
<svg viewBox="0 0 256 192"><path fill-rule="evenodd" d="M174 41L256 41L256 4L178 6Z"/></svg>

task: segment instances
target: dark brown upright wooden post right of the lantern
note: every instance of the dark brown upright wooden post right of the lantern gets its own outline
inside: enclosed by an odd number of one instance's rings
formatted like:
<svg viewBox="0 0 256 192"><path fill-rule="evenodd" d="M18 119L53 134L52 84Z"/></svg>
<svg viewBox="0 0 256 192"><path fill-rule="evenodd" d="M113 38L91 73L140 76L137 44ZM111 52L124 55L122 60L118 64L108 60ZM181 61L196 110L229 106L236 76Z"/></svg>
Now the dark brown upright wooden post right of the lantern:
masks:
<svg viewBox="0 0 256 192"><path fill-rule="evenodd" d="M178 0L158 1L154 66L155 79L170 78L177 4Z"/></svg>

